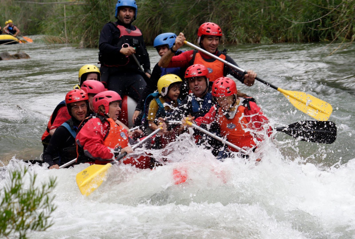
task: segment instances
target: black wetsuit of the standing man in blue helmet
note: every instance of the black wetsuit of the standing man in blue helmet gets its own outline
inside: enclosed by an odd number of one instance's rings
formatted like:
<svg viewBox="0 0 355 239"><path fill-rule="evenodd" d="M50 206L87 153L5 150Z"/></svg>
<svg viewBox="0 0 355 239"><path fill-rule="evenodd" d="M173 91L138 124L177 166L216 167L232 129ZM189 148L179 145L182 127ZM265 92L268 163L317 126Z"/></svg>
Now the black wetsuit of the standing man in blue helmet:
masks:
<svg viewBox="0 0 355 239"><path fill-rule="evenodd" d="M118 26L124 26L121 33ZM100 33L99 61L101 63L101 81L107 84L108 90L114 90L121 96L129 95L139 100L148 77L144 73L151 73L149 55L143 41L143 36L127 36L130 32L137 32L133 25L124 25L122 22L107 23ZM122 35L122 36L121 36ZM120 53L122 47L136 48L135 56L143 66L144 73L139 69L133 56L126 57Z"/></svg>

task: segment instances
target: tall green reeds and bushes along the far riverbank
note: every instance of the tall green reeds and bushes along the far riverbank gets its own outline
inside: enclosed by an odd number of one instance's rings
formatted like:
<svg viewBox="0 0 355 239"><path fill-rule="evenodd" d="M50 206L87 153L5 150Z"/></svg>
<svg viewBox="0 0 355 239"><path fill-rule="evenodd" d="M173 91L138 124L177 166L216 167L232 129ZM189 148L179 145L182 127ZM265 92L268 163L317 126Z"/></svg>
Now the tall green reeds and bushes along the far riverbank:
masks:
<svg viewBox="0 0 355 239"><path fill-rule="evenodd" d="M82 47L98 47L103 25L115 21L115 0L54 1L0 0L0 19L11 18L24 34L60 36ZM353 42L355 38L354 0L137 0L137 4L134 24L147 44L163 32L184 32L193 42L198 26L207 21L222 27L228 43Z"/></svg>

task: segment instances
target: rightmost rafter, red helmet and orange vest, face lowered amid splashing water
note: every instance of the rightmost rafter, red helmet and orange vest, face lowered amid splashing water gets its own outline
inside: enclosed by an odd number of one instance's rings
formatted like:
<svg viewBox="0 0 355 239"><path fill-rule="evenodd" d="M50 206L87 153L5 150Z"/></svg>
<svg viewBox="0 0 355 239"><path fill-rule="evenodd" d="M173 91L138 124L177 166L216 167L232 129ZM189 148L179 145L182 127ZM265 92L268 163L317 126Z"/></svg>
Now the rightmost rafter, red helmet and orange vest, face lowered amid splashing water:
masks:
<svg viewBox="0 0 355 239"><path fill-rule="evenodd" d="M197 125L217 122L222 137L226 137L230 143L239 148L254 151L257 141L264 139L262 131L266 130L270 136L272 128L264 129L269 121L261 108L256 105L255 100L253 98L238 98L236 92L237 88L232 79L218 78L212 85L212 96L217 104L212 106L206 115L195 119L195 122ZM231 147L229 149L237 151Z"/></svg>

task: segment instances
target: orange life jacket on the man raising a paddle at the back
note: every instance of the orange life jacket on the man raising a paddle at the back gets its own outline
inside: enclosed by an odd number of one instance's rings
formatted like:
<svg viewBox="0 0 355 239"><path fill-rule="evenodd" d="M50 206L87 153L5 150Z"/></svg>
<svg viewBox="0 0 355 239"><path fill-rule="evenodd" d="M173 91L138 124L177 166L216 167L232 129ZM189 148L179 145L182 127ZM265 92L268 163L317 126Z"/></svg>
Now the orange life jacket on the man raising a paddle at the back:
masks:
<svg viewBox="0 0 355 239"><path fill-rule="evenodd" d="M220 54L219 58L225 60L225 55ZM220 77L223 77L223 69L224 63L220 62L219 60L214 60L213 62L207 62L204 60L199 52L196 52L195 60L193 64L201 64L204 65L208 69L209 73L209 81L215 81Z"/></svg>

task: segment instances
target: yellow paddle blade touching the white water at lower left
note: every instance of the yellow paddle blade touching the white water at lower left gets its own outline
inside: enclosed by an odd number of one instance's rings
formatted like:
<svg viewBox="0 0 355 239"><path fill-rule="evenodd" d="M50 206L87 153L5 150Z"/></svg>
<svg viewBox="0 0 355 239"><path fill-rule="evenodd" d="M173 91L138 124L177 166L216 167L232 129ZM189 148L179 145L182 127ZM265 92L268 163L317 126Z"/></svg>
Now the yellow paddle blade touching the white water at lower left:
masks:
<svg viewBox="0 0 355 239"><path fill-rule="evenodd" d="M76 175L76 183L82 195L89 196L106 179L107 170L112 164L93 164Z"/></svg>

